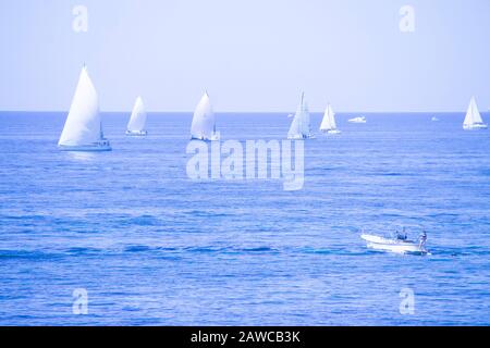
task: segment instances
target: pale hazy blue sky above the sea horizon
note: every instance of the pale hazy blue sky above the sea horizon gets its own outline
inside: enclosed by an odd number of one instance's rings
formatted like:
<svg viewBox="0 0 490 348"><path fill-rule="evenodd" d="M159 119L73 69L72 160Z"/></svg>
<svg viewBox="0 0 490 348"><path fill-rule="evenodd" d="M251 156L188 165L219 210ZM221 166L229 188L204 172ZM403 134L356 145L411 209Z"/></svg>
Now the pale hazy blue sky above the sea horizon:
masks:
<svg viewBox="0 0 490 348"><path fill-rule="evenodd" d="M85 63L102 111L487 111L489 44L489 0L0 0L0 110L69 110Z"/></svg>

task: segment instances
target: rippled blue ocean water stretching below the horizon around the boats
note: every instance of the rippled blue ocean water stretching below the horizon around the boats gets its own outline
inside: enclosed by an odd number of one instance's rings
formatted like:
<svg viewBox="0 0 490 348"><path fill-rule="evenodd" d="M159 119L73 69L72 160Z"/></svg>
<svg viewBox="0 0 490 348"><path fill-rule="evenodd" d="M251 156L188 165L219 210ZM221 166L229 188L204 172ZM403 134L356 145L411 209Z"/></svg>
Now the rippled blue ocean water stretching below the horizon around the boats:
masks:
<svg viewBox="0 0 490 348"><path fill-rule="evenodd" d="M304 188L284 191L188 179L189 113L150 114L146 138L103 114L106 153L59 151L64 113L0 113L0 324L489 325L490 130L464 132L462 113L350 116L305 142ZM217 117L223 140L283 139L291 121ZM359 238L401 225L432 254Z"/></svg>

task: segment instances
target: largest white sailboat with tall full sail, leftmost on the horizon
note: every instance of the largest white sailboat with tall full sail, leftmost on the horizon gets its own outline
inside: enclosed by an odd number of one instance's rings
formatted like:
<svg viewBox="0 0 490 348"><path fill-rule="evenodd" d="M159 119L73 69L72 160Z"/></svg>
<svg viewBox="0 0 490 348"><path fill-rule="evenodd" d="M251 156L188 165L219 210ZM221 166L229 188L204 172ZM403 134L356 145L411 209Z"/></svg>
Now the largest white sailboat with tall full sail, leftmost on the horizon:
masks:
<svg viewBox="0 0 490 348"><path fill-rule="evenodd" d="M103 137L97 91L84 66L58 147L62 151L110 151Z"/></svg>

